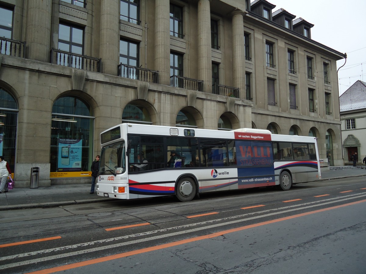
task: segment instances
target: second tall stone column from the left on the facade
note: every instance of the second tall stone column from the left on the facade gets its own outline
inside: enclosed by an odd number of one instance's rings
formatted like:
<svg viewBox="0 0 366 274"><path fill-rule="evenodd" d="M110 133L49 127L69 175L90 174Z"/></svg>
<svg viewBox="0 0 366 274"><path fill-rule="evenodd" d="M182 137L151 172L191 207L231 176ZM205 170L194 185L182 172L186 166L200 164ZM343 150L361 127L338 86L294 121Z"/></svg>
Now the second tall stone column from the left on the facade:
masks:
<svg viewBox="0 0 366 274"><path fill-rule="evenodd" d="M100 53L102 73L117 75L119 56L119 0L101 1Z"/></svg>

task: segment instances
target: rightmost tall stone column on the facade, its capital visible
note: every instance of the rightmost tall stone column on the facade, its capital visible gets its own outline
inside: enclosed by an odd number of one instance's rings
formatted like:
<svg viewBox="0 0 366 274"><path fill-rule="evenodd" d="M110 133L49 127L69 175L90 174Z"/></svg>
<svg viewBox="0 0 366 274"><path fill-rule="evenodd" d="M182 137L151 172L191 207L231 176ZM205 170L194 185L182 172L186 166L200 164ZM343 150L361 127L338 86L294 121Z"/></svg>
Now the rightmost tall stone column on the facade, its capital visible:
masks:
<svg viewBox="0 0 366 274"><path fill-rule="evenodd" d="M240 88L239 98L245 99L245 52L243 11L232 13L232 80L235 88Z"/></svg>

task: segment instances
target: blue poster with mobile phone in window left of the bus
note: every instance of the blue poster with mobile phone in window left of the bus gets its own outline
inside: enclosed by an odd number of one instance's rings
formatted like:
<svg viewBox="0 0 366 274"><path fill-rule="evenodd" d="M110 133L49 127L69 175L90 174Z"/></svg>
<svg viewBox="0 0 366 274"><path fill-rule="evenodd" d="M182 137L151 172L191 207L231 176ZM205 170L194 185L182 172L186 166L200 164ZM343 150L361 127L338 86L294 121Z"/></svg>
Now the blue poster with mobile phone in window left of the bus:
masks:
<svg viewBox="0 0 366 274"><path fill-rule="evenodd" d="M82 140L59 138L57 171L81 171Z"/></svg>

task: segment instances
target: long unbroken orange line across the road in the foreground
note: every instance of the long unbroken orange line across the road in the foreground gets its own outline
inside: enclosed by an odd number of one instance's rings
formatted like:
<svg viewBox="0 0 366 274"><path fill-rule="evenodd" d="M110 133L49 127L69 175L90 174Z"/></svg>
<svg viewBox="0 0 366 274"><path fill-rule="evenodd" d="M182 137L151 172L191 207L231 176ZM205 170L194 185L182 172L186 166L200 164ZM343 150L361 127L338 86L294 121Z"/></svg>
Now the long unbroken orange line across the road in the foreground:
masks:
<svg viewBox="0 0 366 274"><path fill-rule="evenodd" d="M86 261L79 262L79 263L71 263L70 265L57 266L57 267L52 267L52 268L49 268L49 269L29 272L27 274L49 274L49 273L55 273L57 271L65 271L65 270L68 270L68 269L74 269L76 267L93 265L94 263L107 262L109 260L120 259L120 258L124 258L124 257L128 257L128 256L142 254L142 253L155 251L155 250L160 250L160 249L164 249L164 248L168 248L168 247L179 246L180 244L187 244L187 243L191 243L191 242L194 242L194 241L210 239L210 238L222 236L222 235L227 234L227 233L242 231L244 229L249 229L249 228L260 227L262 225L274 224L276 222L291 220L291 219L294 219L294 218L299 218L299 217L307 216L307 215L310 215L310 214L324 212L324 211L328 211L328 210L331 210L331 209L343 208L344 206L356 205L358 203L363 203L363 202L366 202L366 199L361 200L361 201L352 202L352 203L346 203L344 205L332 206L330 208L323 208L323 209L318 209L318 210L309 211L309 212L305 212L305 213L300 213L300 214L296 214L296 215L292 215L292 216L288 216L288 217L283 217L283 218L279 218L279 219L275 219L275 220L259 222L257 224L245 225L244 227L232 228L232 229L212 233L212 234L209 234L209 235L203 235L203 236L198 236L198 237L194 237L194 238L190 238L190 239L175 241L175 242L172 242L172 243L161 244L159 246L147 247L147 248L142 248L142 249L139 249L139 250L128 251L128 252L124 252L124 253L120 253L120 254L110 255L110 256L106 256L106 257L102 257L102 258L86 260Z"/></svg>

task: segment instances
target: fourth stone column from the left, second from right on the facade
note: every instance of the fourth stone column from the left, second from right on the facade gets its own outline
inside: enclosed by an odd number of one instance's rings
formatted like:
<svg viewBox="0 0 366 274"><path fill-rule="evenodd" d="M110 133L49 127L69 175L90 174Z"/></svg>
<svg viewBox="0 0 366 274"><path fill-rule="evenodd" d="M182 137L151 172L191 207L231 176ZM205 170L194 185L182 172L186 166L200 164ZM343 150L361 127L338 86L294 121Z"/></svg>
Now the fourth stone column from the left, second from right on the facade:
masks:
<svg viewBox="0 0 366 274"><path fill-rule="evenodd" d="M210 1L198 1L198 80L204 92L212 92Z"/></svg>

